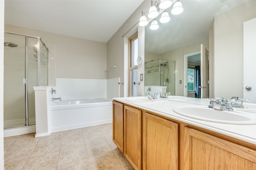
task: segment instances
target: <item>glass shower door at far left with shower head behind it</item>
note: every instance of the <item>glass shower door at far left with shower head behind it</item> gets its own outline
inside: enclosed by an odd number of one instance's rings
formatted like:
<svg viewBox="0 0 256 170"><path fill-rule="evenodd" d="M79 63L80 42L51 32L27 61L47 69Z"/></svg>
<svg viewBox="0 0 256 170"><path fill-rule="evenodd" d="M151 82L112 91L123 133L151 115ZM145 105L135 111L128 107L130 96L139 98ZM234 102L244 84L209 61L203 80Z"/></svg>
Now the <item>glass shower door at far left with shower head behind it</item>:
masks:
<svg viewBox="0 0 256 170"><path fill-rule="evenodd" d="M4 128L26 125L25 37L4 34Z"/></svg>

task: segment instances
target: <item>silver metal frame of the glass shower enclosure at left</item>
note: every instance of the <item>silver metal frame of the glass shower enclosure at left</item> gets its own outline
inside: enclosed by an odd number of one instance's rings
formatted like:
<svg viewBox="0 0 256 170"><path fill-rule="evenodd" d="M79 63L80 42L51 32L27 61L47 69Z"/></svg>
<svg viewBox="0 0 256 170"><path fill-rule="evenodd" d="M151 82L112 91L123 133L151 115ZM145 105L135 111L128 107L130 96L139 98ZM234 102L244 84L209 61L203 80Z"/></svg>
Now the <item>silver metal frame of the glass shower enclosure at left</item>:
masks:
<svg viewBox="0 0 256 170"><path fill-rule="evenodd" d="M37 77L36 77L36 83L37 86L41 86L40 85L40 41L42 42L42 45L44 47L46 47L45 43L42 41L42 39L40 37L34 37L34 36L30 36L30 35L24 35L24 34L19 34L19 33L12 33L12 32L4 32L8 33L8 34L13 34L13 35L20 35L20 36L24 36L25 37L25 100L26 100L26 125L16 125L16 126L10 126L10 127L5 127L4 129L8 129L8 128L12 128L12 127L21 127L21 126L33 126L33 125L28 125L28 37L31 38L36 38L37 41ZM46 47L46 49L48 50L49 53L49 49ZM47 78L49 80L49 57L47 57L47 70L48 70L48 75ZM49 81L48 81L49 83ZM43 85L43 86L48 86L47 85Z"/></svg>

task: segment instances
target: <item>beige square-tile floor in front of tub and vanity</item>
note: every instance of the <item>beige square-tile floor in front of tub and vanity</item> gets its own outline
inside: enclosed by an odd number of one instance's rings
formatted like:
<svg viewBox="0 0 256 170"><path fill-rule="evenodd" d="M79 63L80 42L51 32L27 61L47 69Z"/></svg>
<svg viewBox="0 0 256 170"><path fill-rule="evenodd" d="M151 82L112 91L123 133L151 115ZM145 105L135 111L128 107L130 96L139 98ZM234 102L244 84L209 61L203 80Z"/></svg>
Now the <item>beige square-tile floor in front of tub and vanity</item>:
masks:
<svg viewBox="0 0 256 170"><path fill-rule="evenodd" d="M4 138L5 170L133 170L112 142L112 123Z"/></svg>

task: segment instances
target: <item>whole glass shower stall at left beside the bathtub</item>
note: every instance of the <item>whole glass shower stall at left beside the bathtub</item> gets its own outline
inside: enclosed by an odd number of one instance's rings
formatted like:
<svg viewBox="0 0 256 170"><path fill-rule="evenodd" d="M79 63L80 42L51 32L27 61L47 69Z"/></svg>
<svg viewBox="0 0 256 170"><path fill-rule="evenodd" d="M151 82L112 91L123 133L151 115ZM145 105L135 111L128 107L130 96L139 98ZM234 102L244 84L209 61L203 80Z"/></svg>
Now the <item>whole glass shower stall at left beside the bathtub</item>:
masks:
<svg viewBox="0 0 256 170"><path fill-rule="evenodd" d="M48 48L39 37L4 33L4 128L36 124L34 86L48 86Z"/></svg>

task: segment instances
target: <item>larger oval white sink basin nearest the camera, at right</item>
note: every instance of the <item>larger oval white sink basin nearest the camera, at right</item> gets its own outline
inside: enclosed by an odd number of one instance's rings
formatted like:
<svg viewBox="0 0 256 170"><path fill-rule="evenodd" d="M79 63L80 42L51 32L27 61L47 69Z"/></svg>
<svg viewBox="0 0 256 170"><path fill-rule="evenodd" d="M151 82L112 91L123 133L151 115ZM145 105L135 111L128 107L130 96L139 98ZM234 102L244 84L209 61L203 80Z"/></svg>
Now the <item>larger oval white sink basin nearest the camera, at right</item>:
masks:
<svg viewBox="0 0 256 170"><path fill-rule="evenodd" d="M256 125L256 114L244 111L223 111L211 109L207 106L176 106L172 110L180 115L203 121L234 125Z"/></svg>

